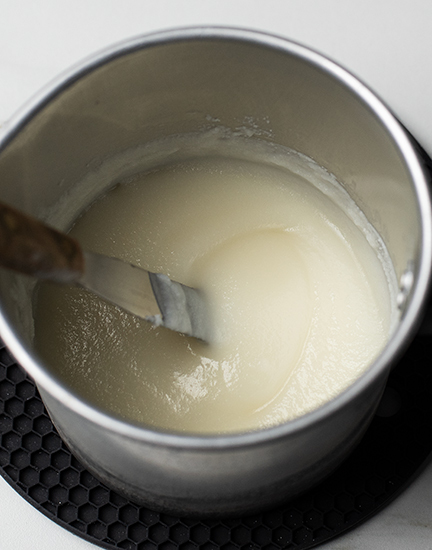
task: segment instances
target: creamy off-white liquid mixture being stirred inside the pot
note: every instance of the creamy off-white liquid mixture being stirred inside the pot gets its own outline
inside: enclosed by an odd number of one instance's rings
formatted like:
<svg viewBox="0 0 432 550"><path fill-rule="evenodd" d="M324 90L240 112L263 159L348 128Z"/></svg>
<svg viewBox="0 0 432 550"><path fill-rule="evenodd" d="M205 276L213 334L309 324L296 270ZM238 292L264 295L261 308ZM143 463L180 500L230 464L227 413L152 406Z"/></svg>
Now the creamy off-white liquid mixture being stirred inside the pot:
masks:
<svg viewBox="0 0 432 550"><path fill-rule="evenodd" d="M71 234L201 288L212 341L45 284L39 353L88 401L155 428L238 432L302 415L352 383L391 327L388 277L348 210L289 170L246 160L199 158L137 175Z"/></svg>

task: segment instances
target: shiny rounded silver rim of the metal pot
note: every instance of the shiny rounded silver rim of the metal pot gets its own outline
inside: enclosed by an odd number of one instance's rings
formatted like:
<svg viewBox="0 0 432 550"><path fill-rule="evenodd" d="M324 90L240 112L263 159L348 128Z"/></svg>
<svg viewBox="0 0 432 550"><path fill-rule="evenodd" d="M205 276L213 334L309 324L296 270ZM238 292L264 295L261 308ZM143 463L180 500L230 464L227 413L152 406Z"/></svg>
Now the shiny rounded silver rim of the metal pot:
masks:
<svg viewBox="0 0 432 550"><path fill-rule="evenodd" d="M64 71L53 81L48 83L21 108L3 128L0 129L0 154L20 130L31 122L32 118L53 98L60 95L74 82L85 77L86 74L108 64L114 59L128 55L137 50L157 47L166 43L196 40L240 42L272 49L300 58L304 62L327 73L351 91L353 95L357 96L365 106L374 113L388 135L393 139L413 181L417 206L421 215L422 236L419 251L420 260L415 286L411 291L411 298L403 318L399 322L386 347L353 384L332 400L309 413L283 424L255 431L221 435L201 435L166 432L134 424L100 410L89 402L81 399L71 389L65 387L59 377L50 374L49 369L45 367L43 361L37 357L36 353L32 352L31 349L20 342L18 334L16 334L8 323L1 303L0 335L18 363L24 367L27 373L43 390L45 390L45 392L76 414L87 418L104 429L115 432L126 438L145 441L153 445L197 450L224 450L234 447L259 445L271 440L278 440L296 432L307 430L312 424L315 425L319 423L347 405L353 398L372 384L374 380L376 380L385 369L401 355L420 323L430 285L432 269L431 197L418 154L414 150L406 131L402 128L387 106L374 92L359 81L357 77L329 58L297 42L293 42L284 37L267 34L262 31L234 27L194 26L143 34L123 40L90 55L81 62L74 64L70 69Z"/></svg>

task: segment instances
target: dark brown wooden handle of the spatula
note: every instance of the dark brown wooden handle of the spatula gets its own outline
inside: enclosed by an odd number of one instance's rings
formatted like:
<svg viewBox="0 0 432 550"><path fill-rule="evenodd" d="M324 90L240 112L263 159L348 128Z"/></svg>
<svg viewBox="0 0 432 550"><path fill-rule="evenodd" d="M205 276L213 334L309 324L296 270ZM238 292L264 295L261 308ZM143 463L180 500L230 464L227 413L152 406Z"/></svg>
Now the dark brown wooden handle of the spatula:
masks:
<svg viewBox="0 0 432 550"><path fill-rule="evenodd" d="M73 283L84 271L84 257L75 239L0 203L0 266Z"/></svg>

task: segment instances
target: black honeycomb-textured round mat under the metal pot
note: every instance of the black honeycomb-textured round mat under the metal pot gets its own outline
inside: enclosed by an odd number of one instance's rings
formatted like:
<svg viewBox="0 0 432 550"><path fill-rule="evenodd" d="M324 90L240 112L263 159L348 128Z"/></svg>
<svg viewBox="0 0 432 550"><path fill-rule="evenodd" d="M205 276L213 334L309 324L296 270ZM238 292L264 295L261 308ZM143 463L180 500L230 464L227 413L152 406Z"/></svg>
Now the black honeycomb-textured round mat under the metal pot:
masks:
<svg viewBox="0 0 432 550"><path fill-rule="evenodd" d="M35 385L1 344L0 473L38 510L102 548L312 548L367 520L427 463L432 451L431 343L430 336L414 340L392 372L362 442L323 483L261 514L203 521L138 506L95 479L62 442Z"/></svg>

